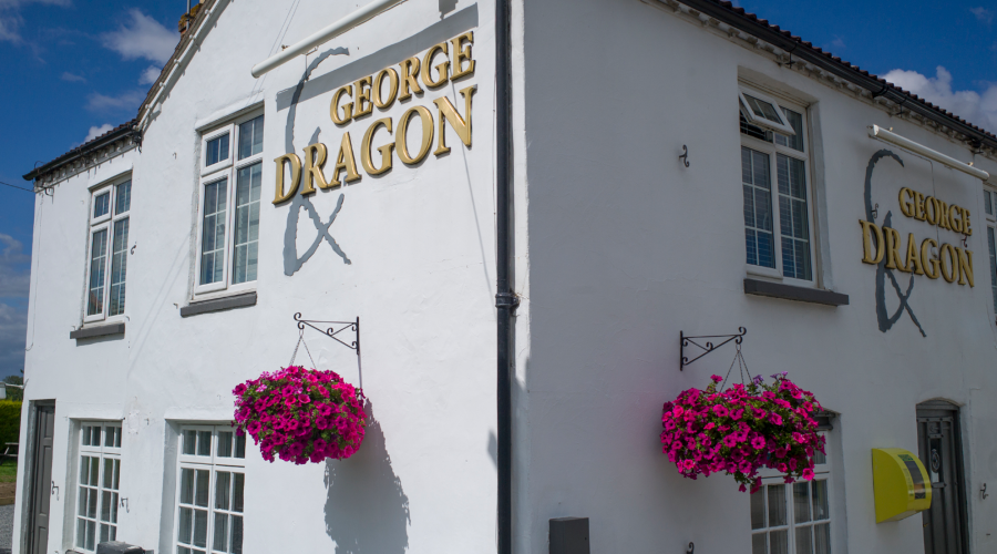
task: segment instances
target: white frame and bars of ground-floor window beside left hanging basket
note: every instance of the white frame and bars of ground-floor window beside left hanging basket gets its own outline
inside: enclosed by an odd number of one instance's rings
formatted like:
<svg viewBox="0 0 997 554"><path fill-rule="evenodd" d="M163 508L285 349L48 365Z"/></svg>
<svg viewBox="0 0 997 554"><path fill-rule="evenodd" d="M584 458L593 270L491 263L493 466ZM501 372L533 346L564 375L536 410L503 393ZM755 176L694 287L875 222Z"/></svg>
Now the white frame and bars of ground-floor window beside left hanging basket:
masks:
<svg viewBox="0 0 997 554"><path fill-rule="evenodd" d="M210 433L210 438L212 438L210 447L209 447L210 453L208 455L196 455L196 454L192 455L192 454L184 453L184 441L186 440L185 438L186 438L188 431L193 431L195 433L204 433L204 432ZM232 433L232 440L233 440L233 442L230 443L232 444L232 454L233 454L232 456L222 456L218 454L220 433ZM202 437L203 435L197 435L197 440L201 440ZM177 438L178 455L177 455L177 464L176 464L176 496L175 496L175 501L174 501L174 515L175 515L174 521L176 522L176 525L175 525L175 529L173 530L173 541L172 541L173 552L171 554L179 554L181 548L189 548L189 552L192 552L192 553L195 553L195 552L204 552L205 554L222 553L223 551L216 551L214 548L215 514L240 516L243 519L243 533L244 533L243 540L245 541L245 519L246 519L245 500L244 500L244 504L243 504L243 511L236 512L235 506L232 504L232 502L234 501L234 497L230 497L230 503L229 503L229 506L227 510L218 509L217 504L216 504L216 499L215 499L215 494L217 492L216 488L217 488L217 479L218 479L219 471L226 472L226 473L232 473L232 474L238 473L238 474L243 475L243 488L244 488L243 489L243 497L245 499L246 437L243 435L240 438L243 441L243 454L244 454L243 458L236 458L237 443L235 441L238 439L239 438L237 438L237 435L235 434L235 428L233 428L232 424L229 424L229 423L214 424L214 425L213 424L189 424L189 425L183 425L181 428L179 437ZM196 450L195 450L195 452L196 452ZM205 527L205 546L203 547L203 550L195 550L195 548L199 548L199 547L192 546L189 544L182 544L179 541L179 532L181 532L181 525L182 525L182 523L181 523L182 512L181 511L187 506L191 506L192 509L194 507L194 504L186 504L186 503L182 502L182 500L183 500L183 491L182 491L182 489L183 489L183 471L184 470L194 470L195 472L196 471L208 471L209 472L207 505L206 506L197 506L197 510L207 512L207 523L206 523L206 527ZM233 479L229 482L229 490L232 491L232 490L234 490L234 488L235 488L235 479ZM196 499L196 491L195 491L195 499ZM228 522L232 522L232 520L229 519ZM193 533L194 533L194 524L193 523L192 523L192 527L191 527L191 533L193 536ZM232 534L232 524L230 523L228 524L227 533L228 533L227 536L228 536L229 546L230 546L230 534ZM193 543L193 541L192 541L192 543ZM241 545L240 545L240 550L241 550Z"/></svg>

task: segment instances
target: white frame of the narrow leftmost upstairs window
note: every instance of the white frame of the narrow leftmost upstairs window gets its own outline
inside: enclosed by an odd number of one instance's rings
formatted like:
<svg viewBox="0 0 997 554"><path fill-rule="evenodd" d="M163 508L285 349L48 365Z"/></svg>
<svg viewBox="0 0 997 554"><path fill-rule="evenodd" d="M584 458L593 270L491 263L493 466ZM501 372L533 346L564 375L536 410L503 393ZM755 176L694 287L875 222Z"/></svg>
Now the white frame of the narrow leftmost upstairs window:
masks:
<svg viewBox="0 0 997 554"><path fill-rule="evenodd" d="M107 320L109 322L120 321L125 319L125 312L122 311L115 316L111 316L111 265L113 263L112 256L114 254L114 225L117 222L123 219L129 219L129 240L125 242L125 250L130 252L127 248L127 243L131 242L131 229L132 229L132 208L131 208L131 198L129 199L129 209L124 213L116 213L116 204L117 204L117 186L124 184L125 182L132 182L132 174L126 173L124 175L117 176L111 181L101 183L90 189L90 228L88 233L86 239L86 277L84 285L84 294L83 294L83 322L91 324L94 321L103 321ZM129 195L132 196L132 191L134 191L134 182L132 182L132 187L130 188ZM100 216L93 216L93 209L95 207L97 196L102 194L109 195L110 205L107 206L107 213ZM93 236L101 230L107 232L107 244L106 244L106 259L104 261L104 287L102 293L101 306L102 309L99 314L88 315L90 311L90 275L93 265ZM125 259L127 259L129 254L125 255ZM127 264L127 263L126 263ZM126 266L127 267L127 266ZM127 275L127 270L125 273ZM125 278L125 283L127 283L127 277ZM127 294L127 288L125 289ZM125 308L127 308L127 302L125 302Z"/></svg>

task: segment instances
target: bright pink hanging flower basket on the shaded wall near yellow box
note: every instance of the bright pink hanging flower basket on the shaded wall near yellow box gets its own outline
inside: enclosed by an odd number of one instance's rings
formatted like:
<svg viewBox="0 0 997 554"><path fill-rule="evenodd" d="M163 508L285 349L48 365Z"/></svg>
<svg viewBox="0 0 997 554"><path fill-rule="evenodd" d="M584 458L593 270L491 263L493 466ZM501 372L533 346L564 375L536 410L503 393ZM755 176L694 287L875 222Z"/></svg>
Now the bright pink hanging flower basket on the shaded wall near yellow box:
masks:
<svg viewBox="0 0 997 554"><path fill-rule="evenodd" d="M688 479L727 472L740 490L761 486L758 471L770 468L785 482L813 479L813 454L824 452L813 414L821 404L813 393L787 379L761 377L718 391L720 376L706 390L688 389L665 402L662 452Z"/></svg>

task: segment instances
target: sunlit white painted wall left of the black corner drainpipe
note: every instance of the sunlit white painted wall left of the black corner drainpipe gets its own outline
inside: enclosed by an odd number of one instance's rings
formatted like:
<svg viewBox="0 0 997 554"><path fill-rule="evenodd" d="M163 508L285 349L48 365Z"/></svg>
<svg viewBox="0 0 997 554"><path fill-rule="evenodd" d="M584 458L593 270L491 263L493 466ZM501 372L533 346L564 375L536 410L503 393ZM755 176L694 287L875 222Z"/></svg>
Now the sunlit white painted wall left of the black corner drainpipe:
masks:
<svg viewBox="0 0 997 554"><path fill-rule="evenodd" d="M281 257L288 205L270 204L271 160L286 152L288 110L278 106L278 96L297 85L306 59L260 80L253 79L249 69L358 4L243 0L217 6L224 12L146 130L141 155L134 152L112 163L134 163L130 240L136 248L129 258L124 337L69 339L82 318L92 179L78 176L59 184L53 197L39 196L29 331L33 346L25 373L27 398L56 400L53 480L63 495L53 502L50 550L64 551L72 543L71 526L63 532L62 524L71 524L74 509L65 494L74 488L66 460L72 459L70 468L78 463L70 448L78 440L70 437L71 422L126 418L122 496L129 497L130 511L121 514L119 538L172 551L175 530L167 523L161 534L161 519L168 520L174 510L173 490L164 490L164 482L175 471L165 460L176 425L230 419L229 391L235 384L288 363L298 339L291 319L296 311L310 319L360 317L362 386L372 402L371 424L363 449L348 461L268 464L250 449L245 551L493 550L492 4L410 0L319 49L343 47L349 55L326 59L311 81L461 12L469 21L473 12L473 76L345 127L359 163L360 138L373 120L391 116L397 125L414 104L435 113L432 100L442 95L464 113L456 91L476 84L473 146L463 146L449 130L449 155L430 154L417 167L395 157L389 174L364 175L345 187L345 205L331 233L352 264L345 265L323 244L292 277L284 275ZM467 30L438 28L439 37L421 35L423 42L434 38L424 47L399 50L397 59L357 76L422 54L432 43ZM297 106L294 146L299 155L316 127L321 129L320 142L335 153L342 130L329 119L333 91ZM255 102L263 102L266 111L258 304L181 318L178 307L191 299L193 284L199 155L195 129ZM319 192L311 198L323 219L339 195ZM304 253L315 237L304 214L298 237ZM306 340L321 368L360 383L352 351L317 334L306 335ZM304 348L298 356L302 360L307 362ZM20 552L20 535L14 545Z"/></svg>

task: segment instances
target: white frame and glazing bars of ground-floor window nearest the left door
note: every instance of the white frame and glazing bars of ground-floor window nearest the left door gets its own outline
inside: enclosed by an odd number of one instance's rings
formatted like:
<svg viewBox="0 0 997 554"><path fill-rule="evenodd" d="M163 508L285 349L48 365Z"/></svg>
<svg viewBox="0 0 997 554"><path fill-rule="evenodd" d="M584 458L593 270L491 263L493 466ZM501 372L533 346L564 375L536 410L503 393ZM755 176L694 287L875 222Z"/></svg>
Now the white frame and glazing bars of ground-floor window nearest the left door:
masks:
<svg viewBox="0 0 997 554"><path fill-rule="evenodd" d="M91 428L100 429L100 439L97 445L92 444L83 444L83 433L84 431L89 431ZM107 445L106 441L109 439L107 430L115 430L116 438L111 435L112 444ZM72 512L73 519L73 550L78 552L92 553L96 552L96 545L100 544L102 527L106 526L109 529L109 541L117 540L117 530L121 525L120 519L120 503L121 503L121 442L122 442L122 427L121 422L117 421L81 421L79 424L79 429L73 434L76 444L79 445L79 452L76 454L76 466L79 472L76 474L76 483L75 483L75 494L76 502L75 509ZM90 458L99 460L99 470L96 475L96 483L91 483L90 479L83 474L83 458ZM106 469L106 461L112 462L112 469L117 471L117 488L114 489L114 476L111 478L111 488L105 488L105 476L104 470ZM116 463L115 463L116 462ZM116 465L116 468L115 468ZM112 471L113 471L112 470ZM91 473L92 475L92 473ZM86 481L86 483L84 483ZM81 510L85 511L85 504L89 501L88 491L94 492L97 495L97 500L95 501L95 512L93 516L89 512L81 513ZM107 495L110 502L107 504L107 509L110 510L110 514L106 514L107 519L105 520L104 514L104 503L103 497ZM95 533L95 537L93 540L93 548L86 548L85 546L85 536L83 537L83 545L80 545L80 523L81 522L93 522L93 532ZM85 524L85 523L84 523ZM84 529L86 532L88 529ZM113 535L110 533L113 532Z"/></svg>

